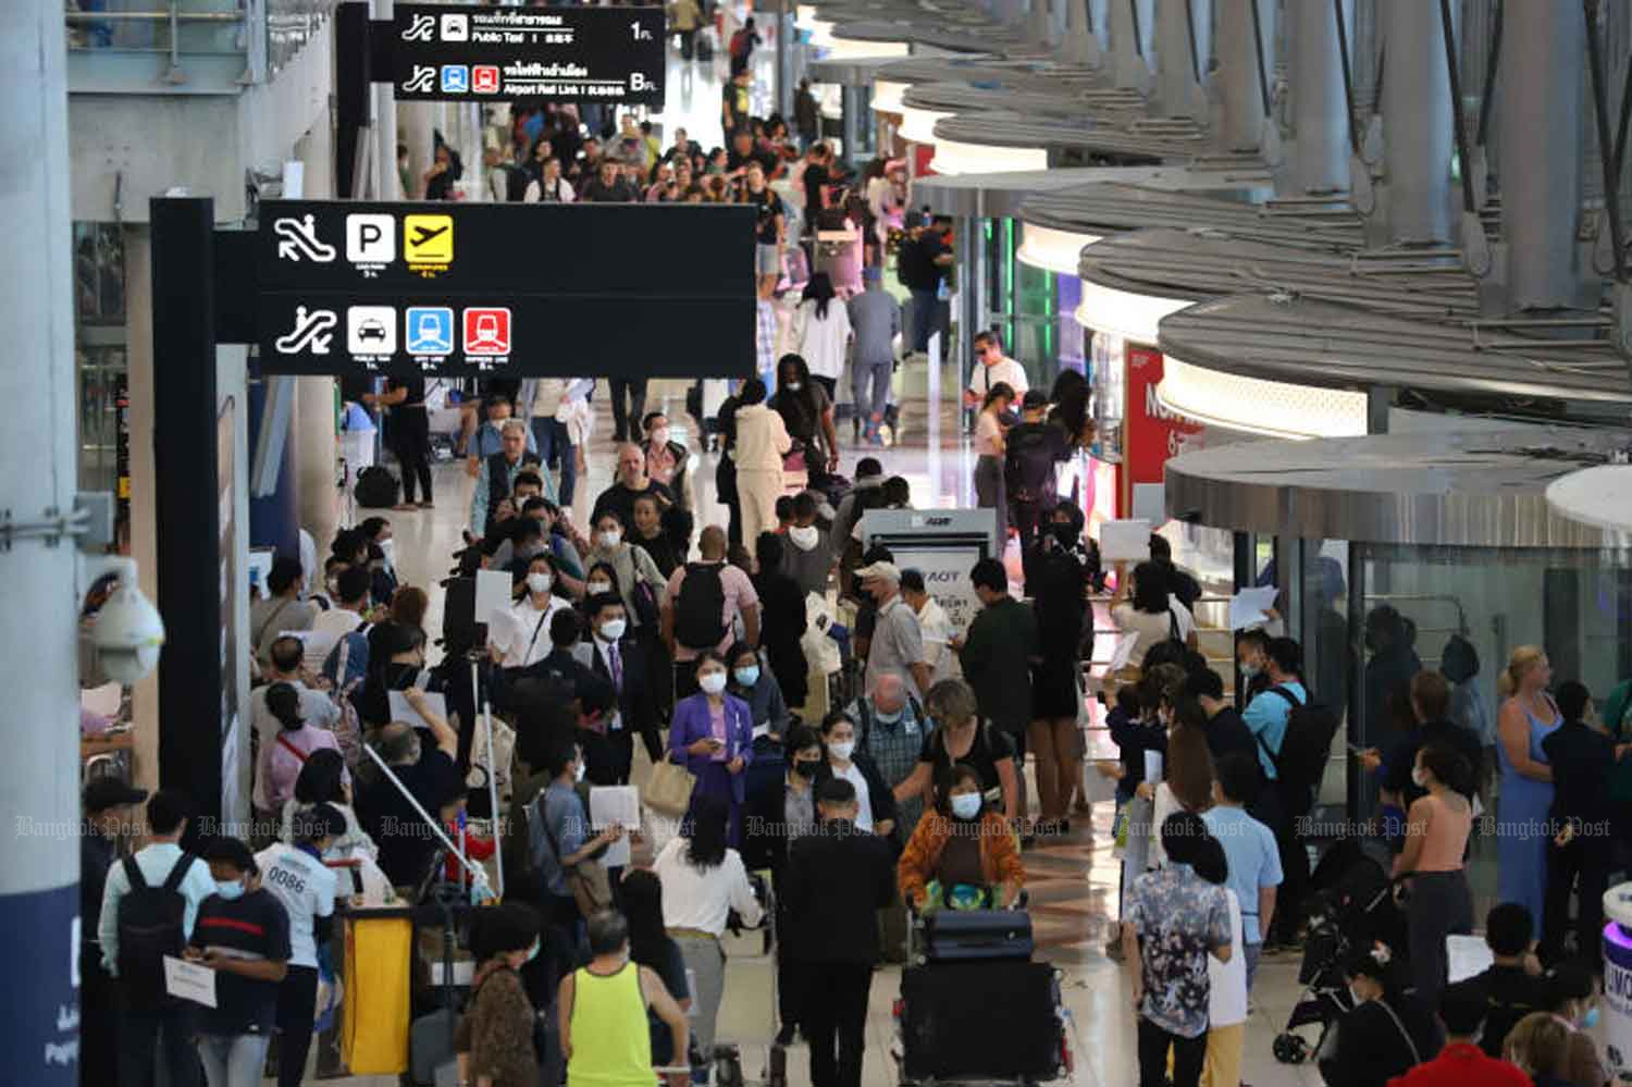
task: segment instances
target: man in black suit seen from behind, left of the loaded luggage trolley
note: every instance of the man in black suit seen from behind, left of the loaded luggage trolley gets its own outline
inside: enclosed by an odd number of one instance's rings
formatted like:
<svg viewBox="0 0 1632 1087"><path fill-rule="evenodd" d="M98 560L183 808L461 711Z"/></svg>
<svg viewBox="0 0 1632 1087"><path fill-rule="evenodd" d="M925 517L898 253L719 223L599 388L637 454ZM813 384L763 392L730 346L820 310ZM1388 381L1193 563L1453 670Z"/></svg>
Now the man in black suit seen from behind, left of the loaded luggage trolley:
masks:
<svg viewBox="0 0 1632 1087"><path fill-rule="evenodd" d="M842 777L823 782L816 790L818 831L788 849L792 930L783 938L811 997L801 1025L814 1087L862 1087L878 911L896 899L889 845L855 827L857 806L855 785Z"/></svg>

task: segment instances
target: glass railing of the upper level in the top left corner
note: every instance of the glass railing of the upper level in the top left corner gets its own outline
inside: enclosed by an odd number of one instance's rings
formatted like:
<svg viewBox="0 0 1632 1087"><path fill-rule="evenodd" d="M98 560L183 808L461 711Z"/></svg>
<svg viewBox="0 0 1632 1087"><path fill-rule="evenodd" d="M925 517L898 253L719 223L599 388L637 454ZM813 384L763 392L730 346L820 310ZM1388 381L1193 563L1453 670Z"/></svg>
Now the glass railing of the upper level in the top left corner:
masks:
<svg viewBox="0 0 1632 1087"><path fill-rule="evenodd" d="M277 77L338 0L65 0L72 90L230 90Z"/></svg>

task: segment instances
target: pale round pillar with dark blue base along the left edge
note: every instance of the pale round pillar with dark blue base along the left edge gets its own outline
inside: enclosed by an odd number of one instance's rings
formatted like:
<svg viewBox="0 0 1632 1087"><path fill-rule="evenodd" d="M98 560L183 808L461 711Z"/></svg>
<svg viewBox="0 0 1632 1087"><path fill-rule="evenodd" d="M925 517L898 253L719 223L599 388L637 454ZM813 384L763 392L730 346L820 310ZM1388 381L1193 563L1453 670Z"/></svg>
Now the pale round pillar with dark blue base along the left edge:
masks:
<svg viewBox="0 0 1632 1087"><path fill-rule="evenodd" d="M10 336L0 397L28 405L0 428L0 506L21 526L72 512L73 235L69 220L67 41L57 0L0 5L0 111L7 147L0 212L26 274L0 294ZM78 1080L78 602L72 539L24 530L0 547L7 586L0 682L0 956L18 984L0 996L0 1051L16 1082ZM29 827L36 827L29 832Z"/></svg>

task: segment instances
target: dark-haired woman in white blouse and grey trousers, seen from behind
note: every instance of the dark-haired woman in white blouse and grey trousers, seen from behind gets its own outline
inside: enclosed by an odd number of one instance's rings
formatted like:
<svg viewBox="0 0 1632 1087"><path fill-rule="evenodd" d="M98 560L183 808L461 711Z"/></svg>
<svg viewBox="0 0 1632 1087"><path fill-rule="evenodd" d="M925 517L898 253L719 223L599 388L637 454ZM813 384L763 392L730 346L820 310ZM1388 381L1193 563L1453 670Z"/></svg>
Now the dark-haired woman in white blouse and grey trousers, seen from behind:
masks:
<svg viewBox="0 0 1632 1087"><path fill-rule="evenodd" d="M734 909L744 925L757 925L764 911L747 881L743 855L726 845L730 810L718 796L697 796L690 816L653 862L663 881L663 925L681 945L685 969L695 979L692 1030L708 1059L713 1051L715 1018L725 992L726 917Z"/></svg>

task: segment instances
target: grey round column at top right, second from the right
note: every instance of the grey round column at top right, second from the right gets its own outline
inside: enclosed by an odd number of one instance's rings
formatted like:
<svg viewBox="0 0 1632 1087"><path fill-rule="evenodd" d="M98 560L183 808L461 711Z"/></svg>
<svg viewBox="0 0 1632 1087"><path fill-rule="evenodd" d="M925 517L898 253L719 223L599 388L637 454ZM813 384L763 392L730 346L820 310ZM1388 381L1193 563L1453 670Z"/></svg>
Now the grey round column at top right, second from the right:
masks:
<svg viewBox="0 0 1632 1087"><path fill-rule="evenodd" d="M1381 15L1389 42L1382 83L1389 240L1449 242L1454 124L1439 5L1382 0Z"/></svg>

